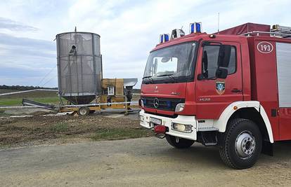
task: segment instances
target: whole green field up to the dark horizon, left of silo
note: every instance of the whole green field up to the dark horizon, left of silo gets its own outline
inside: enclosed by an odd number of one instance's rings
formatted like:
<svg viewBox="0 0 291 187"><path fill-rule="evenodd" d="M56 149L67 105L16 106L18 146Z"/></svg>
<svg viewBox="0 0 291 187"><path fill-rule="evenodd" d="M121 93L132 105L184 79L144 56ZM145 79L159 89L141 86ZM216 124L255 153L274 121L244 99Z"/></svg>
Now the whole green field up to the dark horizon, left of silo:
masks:
<svg viewBox="0 0 291 187"><path fill-rule="evenodd" d="M16 92L18 90L0 90L0 93ZM0 96L0 106L21 106L22 99L30 99L45 104L58 104L58 95L51 91L25 92L15 95Z"/></svg>

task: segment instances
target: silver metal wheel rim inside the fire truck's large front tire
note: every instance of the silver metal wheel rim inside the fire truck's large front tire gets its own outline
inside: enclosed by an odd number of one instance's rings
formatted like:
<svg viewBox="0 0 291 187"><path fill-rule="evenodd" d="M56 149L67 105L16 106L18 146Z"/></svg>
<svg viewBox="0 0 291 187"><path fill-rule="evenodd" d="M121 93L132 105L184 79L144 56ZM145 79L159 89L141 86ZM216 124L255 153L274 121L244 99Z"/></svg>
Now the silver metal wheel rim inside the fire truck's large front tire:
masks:
<svg viewBox="0 0 291 187"><path fill-rule="evenodd" d="M252 157L256 149L256 139L249 131L238 134L235 141L235 151L240 158L247 159Z"/></svg>

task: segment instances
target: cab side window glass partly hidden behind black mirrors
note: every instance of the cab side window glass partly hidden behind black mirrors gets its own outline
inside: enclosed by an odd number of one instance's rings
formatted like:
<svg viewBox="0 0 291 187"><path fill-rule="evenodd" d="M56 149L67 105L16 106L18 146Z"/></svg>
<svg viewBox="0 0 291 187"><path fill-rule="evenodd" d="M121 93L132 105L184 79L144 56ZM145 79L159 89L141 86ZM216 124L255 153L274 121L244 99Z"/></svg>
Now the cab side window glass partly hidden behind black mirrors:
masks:
<svg viewBox="0 0 291 187"><path fill-rule="evenodd" d="M203 47L202 53L202 76L204 78L215 78L216 69L219 62L219 45L209 45ZM236 71L236 50L235 46L231 46L231 56L228 67L228 75L234 74Z"/></svg>

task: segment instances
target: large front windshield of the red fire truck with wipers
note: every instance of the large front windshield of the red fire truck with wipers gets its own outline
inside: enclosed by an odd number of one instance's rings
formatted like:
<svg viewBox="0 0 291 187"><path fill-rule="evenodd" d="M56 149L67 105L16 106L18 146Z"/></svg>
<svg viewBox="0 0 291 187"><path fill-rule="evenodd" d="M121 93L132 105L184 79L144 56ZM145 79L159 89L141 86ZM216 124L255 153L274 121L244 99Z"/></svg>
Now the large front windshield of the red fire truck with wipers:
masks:
<svg viewBox="0 0 291 187"><path fill-rule="evenodd" d="M181 43L154 50L148 57L143 78L181 79L194 76L196 42ZM159 78L159 79L160 79Z"/></svg>

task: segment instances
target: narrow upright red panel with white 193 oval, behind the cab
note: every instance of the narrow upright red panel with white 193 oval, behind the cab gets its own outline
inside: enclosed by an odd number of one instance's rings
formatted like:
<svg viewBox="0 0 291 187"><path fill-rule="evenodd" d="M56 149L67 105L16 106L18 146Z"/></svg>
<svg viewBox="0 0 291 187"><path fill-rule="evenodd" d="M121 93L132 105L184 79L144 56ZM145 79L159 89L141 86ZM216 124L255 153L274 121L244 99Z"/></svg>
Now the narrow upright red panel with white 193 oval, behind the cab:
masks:
<svg viewBox="0 0 291 187"><path fill-rule="evenodd" d="M248 38L250 48L252 100L259 101L264 107L273 130L274 140L279 137L278 116L272 117L271 110L276 111L278 105L278 81L276 67L276 49L273 53L260 53L257 45L261 41L269 41L274 47L275 42L270 41L271 37L254 36Z"/></svg>

